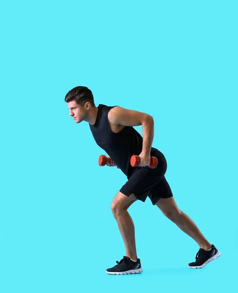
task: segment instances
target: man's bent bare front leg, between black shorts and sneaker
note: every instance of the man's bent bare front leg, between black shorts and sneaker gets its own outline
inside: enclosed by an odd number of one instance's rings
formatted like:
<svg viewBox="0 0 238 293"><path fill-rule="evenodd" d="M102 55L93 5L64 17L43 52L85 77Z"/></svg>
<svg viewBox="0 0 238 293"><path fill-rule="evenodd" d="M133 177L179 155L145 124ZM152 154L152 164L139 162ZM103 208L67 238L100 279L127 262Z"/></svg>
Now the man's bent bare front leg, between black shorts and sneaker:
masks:
<svg viewBox="0 0 238 293"><path fill-rule="evenodd" d="M121 236L124 240L126 248L126 256L133 260L137 260L135 227L127 209L135 202L137 198L132 193L126 196L120 191L114 197L111 209L115 219L117 220Z"/></svg>

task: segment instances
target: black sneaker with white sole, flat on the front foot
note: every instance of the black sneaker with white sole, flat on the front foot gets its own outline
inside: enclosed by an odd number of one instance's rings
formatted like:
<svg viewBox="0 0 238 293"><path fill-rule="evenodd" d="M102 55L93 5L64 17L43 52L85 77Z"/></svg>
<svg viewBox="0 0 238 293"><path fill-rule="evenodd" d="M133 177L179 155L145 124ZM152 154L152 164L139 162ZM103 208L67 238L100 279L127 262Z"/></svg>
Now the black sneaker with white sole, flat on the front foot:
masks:
<svg viewBox="0 0 238 293"><path fill-rule="evenodd" d="M128 256L123 256L120 261L117 261L117 265L111 269L106 270L109 274L131 274L143 272L140 259L138 258L137 262L134 262Z"/></svg>

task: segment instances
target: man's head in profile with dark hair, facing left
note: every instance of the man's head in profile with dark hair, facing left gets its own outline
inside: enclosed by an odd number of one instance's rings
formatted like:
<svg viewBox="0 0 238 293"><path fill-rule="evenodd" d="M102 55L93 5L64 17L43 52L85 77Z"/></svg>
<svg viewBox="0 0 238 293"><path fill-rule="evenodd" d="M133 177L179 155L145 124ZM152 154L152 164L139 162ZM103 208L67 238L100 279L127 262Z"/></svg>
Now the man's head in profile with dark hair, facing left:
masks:
<svg viewBox="0 0 238 293"><path fill-rule="evenodd" d="M76 123L80 123L88 116L88 111L95 108L94 98L91 90L86 86L76 86L65 96L64 101L68 103L70 116Z"/></svg>

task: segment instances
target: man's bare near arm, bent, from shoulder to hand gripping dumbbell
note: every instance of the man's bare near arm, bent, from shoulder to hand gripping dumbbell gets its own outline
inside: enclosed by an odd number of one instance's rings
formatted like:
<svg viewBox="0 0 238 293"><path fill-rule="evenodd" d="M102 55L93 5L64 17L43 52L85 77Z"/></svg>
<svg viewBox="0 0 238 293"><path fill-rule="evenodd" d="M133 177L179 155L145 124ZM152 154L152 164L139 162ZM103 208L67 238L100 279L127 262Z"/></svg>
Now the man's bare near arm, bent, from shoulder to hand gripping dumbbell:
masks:
<svg viewBox="0 0 238 293"><path fill-rule="evenodd" d="M150 151L154 139L154 119L151 115L128 110L119 106L112 108L108 113L110 123L122 126L139 126L142 125L143 146L140 157L141 167L150 164ZM146 161L146 162L145 162ZM147 165L148 164L148 165ZM144 166L143 166L144 165Z"/></svg>

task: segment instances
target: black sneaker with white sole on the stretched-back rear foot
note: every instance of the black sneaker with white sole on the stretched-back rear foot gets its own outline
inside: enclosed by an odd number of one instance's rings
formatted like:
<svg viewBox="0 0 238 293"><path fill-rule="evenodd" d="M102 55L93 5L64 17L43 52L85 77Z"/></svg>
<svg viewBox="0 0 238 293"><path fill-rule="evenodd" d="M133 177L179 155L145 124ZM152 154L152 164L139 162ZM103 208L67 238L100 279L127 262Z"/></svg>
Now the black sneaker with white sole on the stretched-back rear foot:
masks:
<svg viewBox="0 0 238 293"><path fill-rule="evenodd" d="M210 251L205 251L204 249L200 248L196 255L196 261L188 264L188 266L192 269L201 269L219 256L220 252L214 245L212 245L212 249Z"/></svg>

